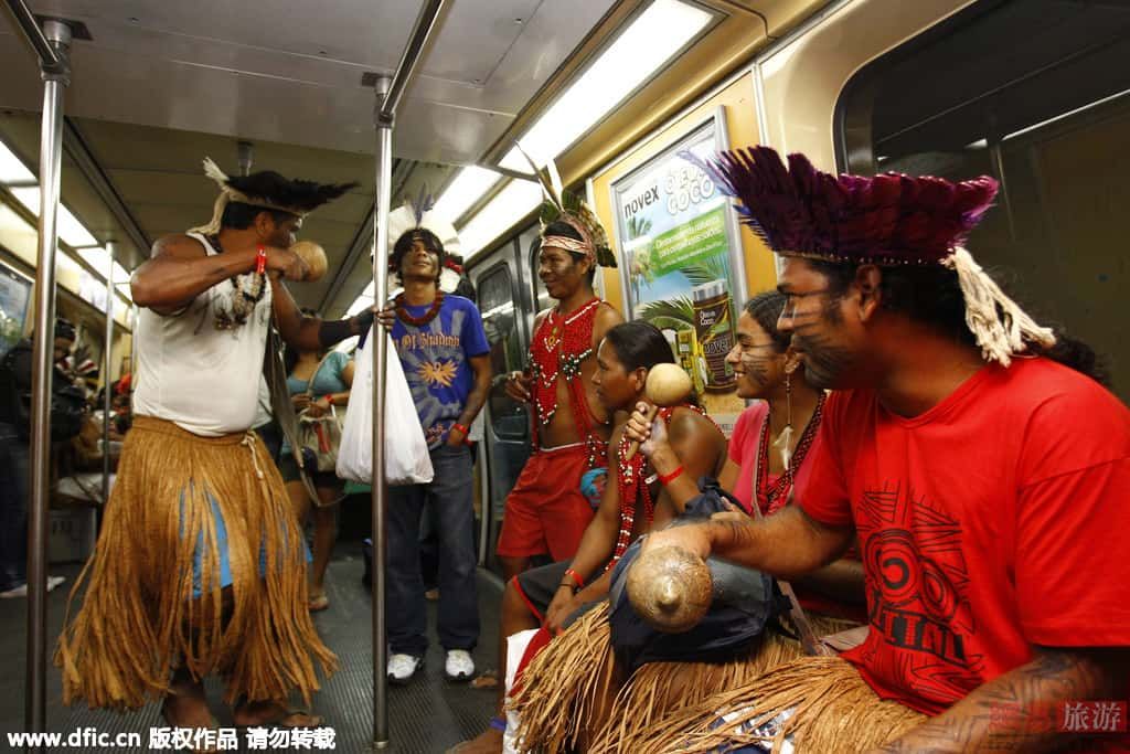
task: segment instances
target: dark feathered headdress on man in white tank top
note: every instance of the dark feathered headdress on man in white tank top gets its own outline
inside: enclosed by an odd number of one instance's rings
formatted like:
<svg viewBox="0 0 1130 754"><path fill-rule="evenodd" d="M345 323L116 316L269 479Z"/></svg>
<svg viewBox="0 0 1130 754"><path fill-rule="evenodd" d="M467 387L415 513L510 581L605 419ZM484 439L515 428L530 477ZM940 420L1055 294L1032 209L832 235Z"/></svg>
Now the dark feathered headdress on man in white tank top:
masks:
<svg viewBox="0 0 1130 754"><path fill-rule="evenodd" d="M207 225L190 228L189 233L215 235L219 233L224 208L236 201L252 207L273 209L305 217L328 201L337 199L357 183L315 183L288 180L275 171L251 175L226 175L211 157L205 157L205 175L219 185L219 196L212 207L212 218Z"/></svg>

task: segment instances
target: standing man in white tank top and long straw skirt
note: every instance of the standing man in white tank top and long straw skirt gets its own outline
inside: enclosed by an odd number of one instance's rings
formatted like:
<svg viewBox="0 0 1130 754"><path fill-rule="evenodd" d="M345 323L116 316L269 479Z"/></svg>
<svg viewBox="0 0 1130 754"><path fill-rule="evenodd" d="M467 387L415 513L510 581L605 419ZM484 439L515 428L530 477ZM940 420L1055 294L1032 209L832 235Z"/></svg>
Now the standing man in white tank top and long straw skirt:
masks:
<svg viewBox="0 0 1130 754"><path fill-rule="evenodd" d="M268 330L305 349L367 330L372 313L303 315L282 280L303 217L356 184L278 173L228 177L211 223L166 236L133 274L133 428L106 506L81 610L59 642L64 701L138 708L164 697L168 725L215 728L203 676L227 682L237 725L316 726L306 703L337 659L306 610L306 553L254 423ZM199 743L199 742L198 742Z"/></svg>

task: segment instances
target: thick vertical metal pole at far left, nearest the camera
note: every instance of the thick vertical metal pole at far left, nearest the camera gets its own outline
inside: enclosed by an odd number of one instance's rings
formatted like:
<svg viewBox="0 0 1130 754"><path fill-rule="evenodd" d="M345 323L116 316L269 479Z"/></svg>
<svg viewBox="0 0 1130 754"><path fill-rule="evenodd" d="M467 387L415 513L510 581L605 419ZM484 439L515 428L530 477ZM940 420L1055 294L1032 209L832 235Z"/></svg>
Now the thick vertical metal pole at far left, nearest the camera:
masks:
<svg viewBox="0 0 1130 754"><path fill-rule="evenodd" d="M70 27L49 20L43 32L66 62ZM40 258L35 272L35 346L32 373L31 505L27 515L27 687L25 723L46 730L47 703L47 492L51 471L51 375L55 320L55 246L63 153L63 89L70 71L43 67L40 140ZM42 751L42 748L36 749Z"/></svg>

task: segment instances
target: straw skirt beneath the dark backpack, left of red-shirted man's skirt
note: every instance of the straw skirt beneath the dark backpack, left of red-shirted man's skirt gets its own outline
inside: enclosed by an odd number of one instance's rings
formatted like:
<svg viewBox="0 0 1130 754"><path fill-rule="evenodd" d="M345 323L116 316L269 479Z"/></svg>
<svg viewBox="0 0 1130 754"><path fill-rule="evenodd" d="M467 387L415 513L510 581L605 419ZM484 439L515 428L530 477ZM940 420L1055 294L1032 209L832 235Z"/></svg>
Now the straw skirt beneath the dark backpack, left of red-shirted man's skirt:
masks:
<svg viewBox="0 0 1130 754"><path fill-rule="evenodd" d="M810 622L817 635L858 625L824 616L810 616ZM614 661L606 603L534 657L510 708L521 720L518 737L525 752L650 752L640 742L673 711L686 711L803 653L800 642L771 631L759 647L730 661L649 662L624 683Z"/></svg>

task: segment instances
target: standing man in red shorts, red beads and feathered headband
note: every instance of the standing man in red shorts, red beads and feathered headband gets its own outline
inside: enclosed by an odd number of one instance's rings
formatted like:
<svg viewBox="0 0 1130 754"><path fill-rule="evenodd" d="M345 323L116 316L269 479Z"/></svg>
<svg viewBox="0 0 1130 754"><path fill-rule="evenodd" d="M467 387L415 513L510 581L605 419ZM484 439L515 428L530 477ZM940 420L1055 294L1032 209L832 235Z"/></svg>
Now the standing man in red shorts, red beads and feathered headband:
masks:
<svg viewBox="0 0 1130 754"><path fill-rule="evenodd" d="M541 228L538 277L557 305L533 326L527 373L512 372L506 381L511 398L533 406L533 454L506 497L498 537L506 581L528 569L534 555L572 558L592 520L581 477L607 467L610 432L592 375L597 347L609 328L624 321L592 289L598 265L616 267L596 215L566 198L560 205L547 201L541 217L551 219Z"/></svg>

